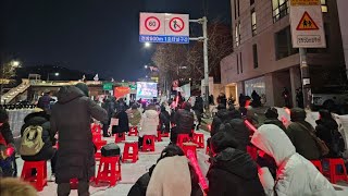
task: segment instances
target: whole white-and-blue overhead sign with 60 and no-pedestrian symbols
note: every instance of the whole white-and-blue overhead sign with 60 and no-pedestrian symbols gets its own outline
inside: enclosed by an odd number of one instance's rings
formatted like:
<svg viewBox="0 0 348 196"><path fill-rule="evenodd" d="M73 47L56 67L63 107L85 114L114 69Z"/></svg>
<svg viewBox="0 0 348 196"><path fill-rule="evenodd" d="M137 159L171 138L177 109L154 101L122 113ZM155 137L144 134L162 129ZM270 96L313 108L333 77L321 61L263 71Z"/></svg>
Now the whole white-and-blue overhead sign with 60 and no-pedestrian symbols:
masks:
<svg viewBox="0 0 348 196"><path fill-rule="evenodd" d="M140 13L140 42L189 44L189 15Z"/></svg>

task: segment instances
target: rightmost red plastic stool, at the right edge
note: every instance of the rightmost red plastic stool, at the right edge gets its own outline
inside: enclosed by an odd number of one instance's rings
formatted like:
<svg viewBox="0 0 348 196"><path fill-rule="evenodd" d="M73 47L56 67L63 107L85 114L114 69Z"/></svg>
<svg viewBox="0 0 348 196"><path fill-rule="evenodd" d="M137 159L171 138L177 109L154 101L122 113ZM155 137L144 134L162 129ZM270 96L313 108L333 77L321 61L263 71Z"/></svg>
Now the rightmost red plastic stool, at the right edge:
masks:
<svg viewBox="0 0 348 196"><path fill-rule="evenodd" d="M336 184L337 181L348 182L347 169L343 159L324 159L324 161L328 161L328 171L324 171L324 175L330 177L331 183ZM344 172L341 174L337 172L337 166L343 167Z"/></svg>

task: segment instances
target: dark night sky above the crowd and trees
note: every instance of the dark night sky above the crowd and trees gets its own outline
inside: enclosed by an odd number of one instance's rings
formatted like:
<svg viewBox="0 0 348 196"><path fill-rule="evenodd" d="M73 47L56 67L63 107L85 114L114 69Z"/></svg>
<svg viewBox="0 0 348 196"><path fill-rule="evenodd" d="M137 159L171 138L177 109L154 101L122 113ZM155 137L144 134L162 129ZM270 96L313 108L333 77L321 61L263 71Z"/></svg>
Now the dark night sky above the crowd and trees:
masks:
<svg viewBox="0 0 348 196"><path fill-rule="evenodd" d="M139 12L231 21L229 0L0 0L1 50L24 65L54 64L103 78L145 75L152 49L138 40ZM207 9L204 9L207 8Z"/></svg>

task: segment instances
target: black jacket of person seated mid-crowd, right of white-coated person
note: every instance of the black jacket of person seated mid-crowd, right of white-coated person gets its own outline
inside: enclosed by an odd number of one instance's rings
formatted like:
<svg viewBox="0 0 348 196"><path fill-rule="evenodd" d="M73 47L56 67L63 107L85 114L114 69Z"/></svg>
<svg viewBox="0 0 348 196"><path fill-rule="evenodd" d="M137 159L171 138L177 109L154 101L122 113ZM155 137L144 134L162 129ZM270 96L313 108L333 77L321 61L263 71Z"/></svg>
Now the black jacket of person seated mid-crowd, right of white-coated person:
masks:
<svg viewBox="0 0 348 196"><path fill-rule="evenodd" d="M176 124L177 134L190 134L195 123L194 113L185 110L179 109L175 112L174 122Z"/></svg>

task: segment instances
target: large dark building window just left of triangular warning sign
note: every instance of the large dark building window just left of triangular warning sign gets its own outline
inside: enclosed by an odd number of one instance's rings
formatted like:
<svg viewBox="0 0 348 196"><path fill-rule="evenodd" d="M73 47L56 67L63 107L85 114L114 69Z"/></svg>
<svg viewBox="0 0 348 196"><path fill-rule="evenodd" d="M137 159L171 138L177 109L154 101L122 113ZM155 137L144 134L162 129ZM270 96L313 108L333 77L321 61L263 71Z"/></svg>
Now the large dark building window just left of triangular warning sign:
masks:
<svg viewBox="0 0 348 196"><path fill-rule="evenodd" d="M275 34L276 60L298 53L298 49L293 48L290 27L286 27Z"/></svg>

